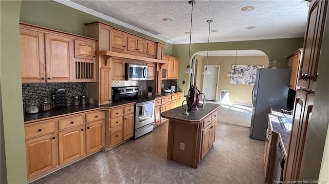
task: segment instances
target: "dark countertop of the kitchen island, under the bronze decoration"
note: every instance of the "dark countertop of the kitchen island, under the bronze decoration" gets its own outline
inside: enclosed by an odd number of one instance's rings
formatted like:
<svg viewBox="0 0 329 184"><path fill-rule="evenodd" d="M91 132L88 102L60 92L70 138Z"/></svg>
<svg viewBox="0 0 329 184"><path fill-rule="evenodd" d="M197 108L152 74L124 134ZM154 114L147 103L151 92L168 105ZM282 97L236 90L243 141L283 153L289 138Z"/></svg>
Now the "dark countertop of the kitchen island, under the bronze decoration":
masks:
<svg viewBox="0 0 329 184"><path fill-rule="evenodd" d="M177 119L181 121L189 122L190 124L197 124L202 121L205 117L207 117L212 112L216 111L222 107L219 104L211 104L206 103L205 108L198 108L196 111L189 112L189 115L183 114L185 112L181 106L171 109L169 111L165 111L161 113L162 117L169 118L169 119Z"/></svg>

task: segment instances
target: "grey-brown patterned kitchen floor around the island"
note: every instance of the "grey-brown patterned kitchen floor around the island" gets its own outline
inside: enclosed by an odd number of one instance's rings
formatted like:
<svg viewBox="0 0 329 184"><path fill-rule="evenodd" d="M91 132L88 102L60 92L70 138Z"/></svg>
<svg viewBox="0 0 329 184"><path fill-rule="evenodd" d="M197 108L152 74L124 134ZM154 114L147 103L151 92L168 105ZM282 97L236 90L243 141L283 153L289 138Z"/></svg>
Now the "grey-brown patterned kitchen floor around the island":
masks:
<svg viewBox="0 0 329 184"><path fill-rule="evenodd" d="M264 141L250 139L247 127L218 121L214 146L197 169L167 159L166 122L32 183L264 183Z"/></svg>

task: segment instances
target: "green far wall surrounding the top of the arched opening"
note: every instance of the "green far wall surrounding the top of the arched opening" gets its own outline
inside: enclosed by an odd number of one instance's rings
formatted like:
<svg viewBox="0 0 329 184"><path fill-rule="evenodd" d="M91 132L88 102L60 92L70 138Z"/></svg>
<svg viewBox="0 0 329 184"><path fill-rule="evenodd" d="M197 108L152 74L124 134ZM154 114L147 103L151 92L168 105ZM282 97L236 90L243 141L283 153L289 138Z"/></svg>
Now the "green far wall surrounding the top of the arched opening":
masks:
<svg viewBox="0 0 329 184"><path fill-rule="evenodd" d="M193 40L193 35L192 35ZM303 48L304 38L264 39L241 42L210 43L209 50L248 50L257 49L265 52L269 62L276 59L280 67L286 67L287 57L299 48ZM198 51L207 50L207 43L192 44L191 58ZM188 65L189 44L173 45L173 56L179 57L178 89L188 90L190 74L183 73ZM185 80L185 85L182 84Z"/></svg>

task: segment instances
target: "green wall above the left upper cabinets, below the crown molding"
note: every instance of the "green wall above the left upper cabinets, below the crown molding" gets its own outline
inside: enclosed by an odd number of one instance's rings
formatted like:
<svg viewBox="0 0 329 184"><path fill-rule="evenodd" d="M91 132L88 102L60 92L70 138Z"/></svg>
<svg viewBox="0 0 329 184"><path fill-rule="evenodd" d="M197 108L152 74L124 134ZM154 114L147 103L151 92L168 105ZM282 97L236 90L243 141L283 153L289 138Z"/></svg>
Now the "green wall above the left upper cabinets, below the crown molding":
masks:
<svg viewBox="0 0 329 184"><path fill-rule="evenodd" d="M20 21L83 36L86 36L85 23L100 21L135 35L151 39L154 42L165 44L163 52L168 55L172 54L171 44L54 1L23 1Z"/></svg>

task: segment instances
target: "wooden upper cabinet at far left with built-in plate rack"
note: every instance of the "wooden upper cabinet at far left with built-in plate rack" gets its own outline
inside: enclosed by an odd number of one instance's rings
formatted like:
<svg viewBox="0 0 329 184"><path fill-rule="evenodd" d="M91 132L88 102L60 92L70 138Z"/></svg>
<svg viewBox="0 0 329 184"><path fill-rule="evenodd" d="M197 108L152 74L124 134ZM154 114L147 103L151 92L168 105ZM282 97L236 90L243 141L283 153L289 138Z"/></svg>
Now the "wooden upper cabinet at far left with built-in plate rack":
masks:
<svg viewBox="0 0 329 184"><path fill-rule="evenodd" d="M20 24L22 83L95 81L95 39Z"/></svg>

